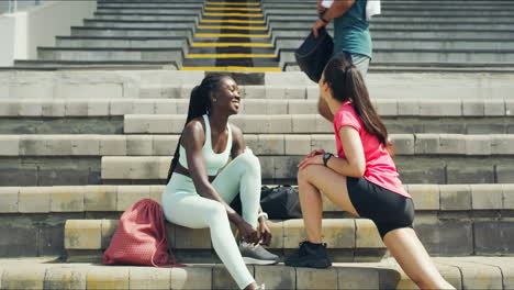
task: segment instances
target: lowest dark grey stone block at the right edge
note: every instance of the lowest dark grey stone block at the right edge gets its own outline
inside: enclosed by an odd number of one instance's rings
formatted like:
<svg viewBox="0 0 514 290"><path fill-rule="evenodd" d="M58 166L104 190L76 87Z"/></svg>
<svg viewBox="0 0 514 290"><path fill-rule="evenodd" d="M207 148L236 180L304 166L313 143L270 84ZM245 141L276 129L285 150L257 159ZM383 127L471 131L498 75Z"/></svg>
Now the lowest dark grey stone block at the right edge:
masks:
<svg viewBox="0 0 514 290"><path fill-rule="evenodd" d="M477 255L514 254L514 224L509 221L474 222L474 250Z"/></svg>

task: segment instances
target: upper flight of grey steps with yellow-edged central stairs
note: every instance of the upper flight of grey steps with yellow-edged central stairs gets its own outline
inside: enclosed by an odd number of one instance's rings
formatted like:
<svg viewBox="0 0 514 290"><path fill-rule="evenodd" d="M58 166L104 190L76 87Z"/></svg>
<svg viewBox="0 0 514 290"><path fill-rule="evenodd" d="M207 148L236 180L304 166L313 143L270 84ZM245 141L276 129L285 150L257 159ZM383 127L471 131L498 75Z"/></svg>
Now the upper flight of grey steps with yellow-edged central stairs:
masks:
<svg viewBox="0 0 514 290"><path fill-rule="evenodd" d="M513 1L382 2L382 14L370 22L371 71L514 71ZM93 19L15 67L298 70L294 51L316 19L315 5L313 0L99 0Z"/></svg>

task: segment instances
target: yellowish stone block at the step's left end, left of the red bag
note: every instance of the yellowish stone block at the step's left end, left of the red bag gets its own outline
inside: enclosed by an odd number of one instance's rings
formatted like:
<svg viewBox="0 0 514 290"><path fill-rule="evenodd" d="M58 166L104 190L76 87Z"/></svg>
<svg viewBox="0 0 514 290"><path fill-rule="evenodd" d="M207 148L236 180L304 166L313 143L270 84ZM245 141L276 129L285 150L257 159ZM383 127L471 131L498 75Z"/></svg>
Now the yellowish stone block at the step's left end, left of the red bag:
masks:
<svg viewBox="0 0 514 290"><path fill-rule="evenodd" d="M65 225L66 249L101 249L101 220L68 220Z"/></svg>

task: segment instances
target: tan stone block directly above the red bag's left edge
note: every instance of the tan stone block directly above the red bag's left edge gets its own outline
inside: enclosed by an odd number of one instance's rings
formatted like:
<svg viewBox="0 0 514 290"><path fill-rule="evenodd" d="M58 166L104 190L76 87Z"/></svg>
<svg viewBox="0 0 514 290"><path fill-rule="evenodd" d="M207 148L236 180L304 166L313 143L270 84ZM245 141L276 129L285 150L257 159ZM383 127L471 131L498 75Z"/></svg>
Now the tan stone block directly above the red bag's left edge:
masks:
<svg viewBox="0 0 514 290"><path fill-rule="evenodd" d="M83 196L86 211L116 211L118 187L87 186Z"/></svg>

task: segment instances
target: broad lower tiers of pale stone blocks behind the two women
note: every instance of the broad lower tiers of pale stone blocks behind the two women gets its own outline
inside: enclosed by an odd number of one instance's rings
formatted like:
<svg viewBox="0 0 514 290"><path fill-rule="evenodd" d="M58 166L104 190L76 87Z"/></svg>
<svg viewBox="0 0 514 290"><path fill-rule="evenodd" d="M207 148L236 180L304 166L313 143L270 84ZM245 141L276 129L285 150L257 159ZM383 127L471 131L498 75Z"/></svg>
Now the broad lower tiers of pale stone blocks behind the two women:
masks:
<svg viewBox="0 0 514 290"><path fill-rule="evenodd" d="M0 72L1 289L235 288L205 230L167 224L187 268L99 265L121 213L160 200L189 93L204 74ZM244 94L231 120L259 157L264 183L294 185L301 156L334 149L329 124L316 115L317 89L301 72L230 74ZM415 200L414 227L459 289L514 286L513 80L504 72L368 77ZM269 248L282 258L304 238L301 220L270 225ZM324 202L324 238L329 269L249 269L270 289L414 287L370 221Z"/></svg>

